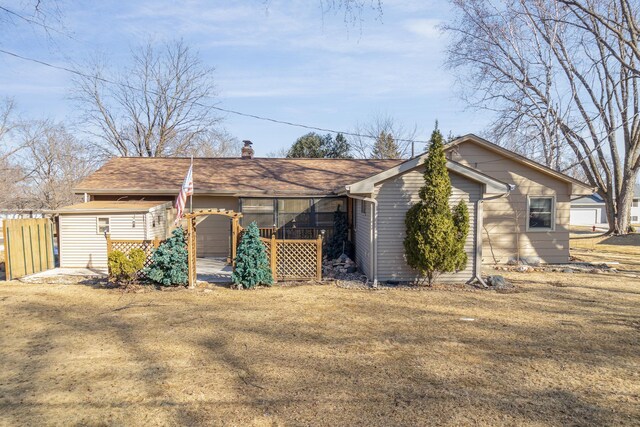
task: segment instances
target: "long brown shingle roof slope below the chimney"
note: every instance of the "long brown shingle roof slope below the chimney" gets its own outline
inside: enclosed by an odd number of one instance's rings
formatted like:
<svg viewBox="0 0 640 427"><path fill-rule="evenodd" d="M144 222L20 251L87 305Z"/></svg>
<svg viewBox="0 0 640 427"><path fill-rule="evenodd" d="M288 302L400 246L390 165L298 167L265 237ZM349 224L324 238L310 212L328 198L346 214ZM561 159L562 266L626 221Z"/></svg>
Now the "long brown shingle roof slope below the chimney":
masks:
<svg viewBox="0 0 640 427"><path fill-rule="evenodd" d="M76 186L78 193L175 194L188 158L116 157ZM195 158L198 194L331 194L402 160Z"/></svg>

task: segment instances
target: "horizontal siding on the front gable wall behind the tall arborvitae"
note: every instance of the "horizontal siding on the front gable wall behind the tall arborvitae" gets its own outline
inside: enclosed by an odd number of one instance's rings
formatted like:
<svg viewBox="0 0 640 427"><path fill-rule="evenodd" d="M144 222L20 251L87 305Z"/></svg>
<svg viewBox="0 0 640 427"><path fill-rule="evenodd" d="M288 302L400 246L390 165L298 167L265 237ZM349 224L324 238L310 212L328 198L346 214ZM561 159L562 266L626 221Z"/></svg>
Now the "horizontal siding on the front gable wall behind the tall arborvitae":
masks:
<svg viewBox="0 0 640 427"><path fill-rule="evenodd" d="M406 263L404 255L405 214L419 200L418 192L424 185L423 168L414 169L389 179L377 186L378 200L378 280L414 281L417 273ZM440 276L440 282L466 282L473 278L475 269L475 202L481 198L482 186L461 175L450 173L451 206L464 200L469 208L470 227L465 250L467 268L458 273Z"/></svg>

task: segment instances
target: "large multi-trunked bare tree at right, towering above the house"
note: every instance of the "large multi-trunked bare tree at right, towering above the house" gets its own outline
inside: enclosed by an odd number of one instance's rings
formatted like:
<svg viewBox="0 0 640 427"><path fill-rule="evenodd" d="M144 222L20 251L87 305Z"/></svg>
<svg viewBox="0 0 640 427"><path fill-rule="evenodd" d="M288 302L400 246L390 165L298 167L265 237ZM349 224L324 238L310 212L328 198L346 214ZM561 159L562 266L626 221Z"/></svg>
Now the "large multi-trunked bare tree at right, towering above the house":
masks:
<svg viewBox="0 0 640 427"><path fill-rule="evenodd" d="M626 233L640 168L638 8L625 0L452 3L448 64L469 103L494 111L503 135L529 134L548 165L580 167L606 201L610 232Z"/></svg>

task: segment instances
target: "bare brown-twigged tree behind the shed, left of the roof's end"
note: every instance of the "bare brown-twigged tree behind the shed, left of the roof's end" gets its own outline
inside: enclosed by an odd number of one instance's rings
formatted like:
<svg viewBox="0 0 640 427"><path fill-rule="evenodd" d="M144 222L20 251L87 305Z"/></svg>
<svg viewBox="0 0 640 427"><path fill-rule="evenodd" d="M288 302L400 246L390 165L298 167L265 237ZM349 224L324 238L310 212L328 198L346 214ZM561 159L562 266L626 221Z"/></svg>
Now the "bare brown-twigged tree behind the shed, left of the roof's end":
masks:
<svg viewBox="0 0 640 427"><path fill-rule="evenodd" d="M23 199L29 207L57 209L76 201L73 187L97 166L95 156L59 123L31 121L20 126Z"/></svg>

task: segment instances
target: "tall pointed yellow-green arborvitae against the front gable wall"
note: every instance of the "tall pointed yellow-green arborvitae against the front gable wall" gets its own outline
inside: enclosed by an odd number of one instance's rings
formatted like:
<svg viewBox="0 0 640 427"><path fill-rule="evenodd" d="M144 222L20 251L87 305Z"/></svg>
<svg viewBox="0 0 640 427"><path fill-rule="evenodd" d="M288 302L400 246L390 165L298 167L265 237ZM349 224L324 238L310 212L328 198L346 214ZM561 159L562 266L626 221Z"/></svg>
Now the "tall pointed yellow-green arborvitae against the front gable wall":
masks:
<svg viewBox="0 0 640 427"><path fill-rule="evenodd" d="M404 248L407 264L432 285L440 274L466 267L464 242L469 232L469 212L462 201L453 211L449 208L451 180L438 129L431 135L424 166L420 201L405 217Z"/></svg>

